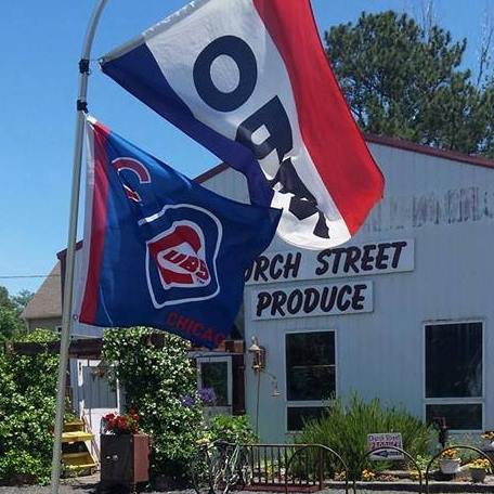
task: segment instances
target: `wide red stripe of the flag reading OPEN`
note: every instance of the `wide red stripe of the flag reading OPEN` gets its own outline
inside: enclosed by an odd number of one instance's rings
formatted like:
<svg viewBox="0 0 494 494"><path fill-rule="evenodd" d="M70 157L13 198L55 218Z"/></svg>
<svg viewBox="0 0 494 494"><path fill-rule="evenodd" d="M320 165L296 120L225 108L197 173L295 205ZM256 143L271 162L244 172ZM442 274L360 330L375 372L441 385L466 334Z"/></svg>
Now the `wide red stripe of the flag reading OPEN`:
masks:
<svg viewBox="0 0 494 494"><path fill-rule="evenodd" d="M300 132L350 233L382 197L384 177L326 58L309 0L252 0L283 57Z"/></svg>

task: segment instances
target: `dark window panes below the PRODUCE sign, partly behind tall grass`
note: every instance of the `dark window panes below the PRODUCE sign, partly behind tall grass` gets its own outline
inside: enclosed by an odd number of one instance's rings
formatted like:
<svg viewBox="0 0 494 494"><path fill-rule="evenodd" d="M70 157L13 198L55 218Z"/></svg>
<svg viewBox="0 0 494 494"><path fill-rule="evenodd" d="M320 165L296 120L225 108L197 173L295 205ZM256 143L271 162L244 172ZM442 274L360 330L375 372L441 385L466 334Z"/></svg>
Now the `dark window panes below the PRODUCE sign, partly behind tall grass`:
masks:
<svg viewBox="0 0 494 494"><path fill-rule="evenodd" d="M300 430L336 391L335 333L288 334L285 348L287 429Z"/></svg>

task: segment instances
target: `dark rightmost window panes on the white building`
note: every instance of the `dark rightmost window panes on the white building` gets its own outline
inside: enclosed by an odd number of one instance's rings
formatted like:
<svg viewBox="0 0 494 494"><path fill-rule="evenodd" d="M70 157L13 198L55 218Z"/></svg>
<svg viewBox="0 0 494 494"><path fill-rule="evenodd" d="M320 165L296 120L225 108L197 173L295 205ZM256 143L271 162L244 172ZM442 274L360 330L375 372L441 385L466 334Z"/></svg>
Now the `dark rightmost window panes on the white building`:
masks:
<svg viewBox="0 0 494 494"><path fill-rule="evenodd" d="M481 430L483 325L426 325L426 419L445 417L453 430Z"/></svg>

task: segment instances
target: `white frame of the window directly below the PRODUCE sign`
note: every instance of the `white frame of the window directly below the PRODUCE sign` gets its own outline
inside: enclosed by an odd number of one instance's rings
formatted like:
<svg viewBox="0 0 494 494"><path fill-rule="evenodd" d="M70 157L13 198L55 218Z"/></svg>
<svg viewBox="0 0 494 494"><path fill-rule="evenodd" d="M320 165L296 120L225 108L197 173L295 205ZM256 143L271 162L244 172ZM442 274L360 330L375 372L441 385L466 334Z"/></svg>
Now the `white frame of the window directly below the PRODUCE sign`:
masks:
<svg viewBox="0 0 494 494"><path fill-rule="evenodd" d="M288 408L321 408L328 405L329 400L288 400L288 380L287 380L287 355L286 355L286 340L289 335L308 335L311 333L333 333L334 335L334 343L335 343L335 396L339 395L339 373L338 373L338 333L336 329L307 329L307 330L289 330L285 332L283 338L283 382L284 382L284 421L285 421L285 434L294 435L299 433L299 430L290 430L288 429Z"/></svg>

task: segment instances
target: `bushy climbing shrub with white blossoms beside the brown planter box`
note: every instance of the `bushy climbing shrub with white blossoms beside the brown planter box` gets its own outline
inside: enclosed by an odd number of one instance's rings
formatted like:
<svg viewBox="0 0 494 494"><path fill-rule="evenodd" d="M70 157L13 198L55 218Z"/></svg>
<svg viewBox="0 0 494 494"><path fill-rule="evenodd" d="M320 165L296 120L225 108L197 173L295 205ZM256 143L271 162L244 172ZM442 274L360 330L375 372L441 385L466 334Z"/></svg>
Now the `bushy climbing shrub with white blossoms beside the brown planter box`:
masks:
<svg viewBox="0 0 494 494"><path fill-rule="evenodd" d="M204 434L200 407L182 404L184 396L196 393L196 368L187 356L187 342L165 334L165 347L158 349L146 344L153 333L145 327L108 330L103 353L115 365L114 378L136 408L142 431L153 438L152 476L183 481Z"/></svg>

